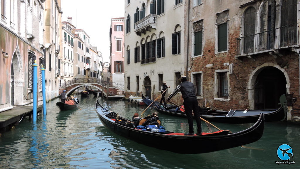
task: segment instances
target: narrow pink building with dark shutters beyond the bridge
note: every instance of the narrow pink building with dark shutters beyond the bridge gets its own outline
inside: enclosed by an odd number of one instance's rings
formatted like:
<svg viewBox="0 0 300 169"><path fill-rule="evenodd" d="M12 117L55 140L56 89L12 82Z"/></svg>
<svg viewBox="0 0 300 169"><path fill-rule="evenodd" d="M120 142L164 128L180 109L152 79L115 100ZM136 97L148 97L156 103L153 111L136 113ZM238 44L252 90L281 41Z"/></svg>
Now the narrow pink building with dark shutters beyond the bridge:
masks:
<svg viewBox="0 0 300 169"><path fill-rule="evenodd" d="M124 17L110 23L110 81L124 85Z"/></svg>

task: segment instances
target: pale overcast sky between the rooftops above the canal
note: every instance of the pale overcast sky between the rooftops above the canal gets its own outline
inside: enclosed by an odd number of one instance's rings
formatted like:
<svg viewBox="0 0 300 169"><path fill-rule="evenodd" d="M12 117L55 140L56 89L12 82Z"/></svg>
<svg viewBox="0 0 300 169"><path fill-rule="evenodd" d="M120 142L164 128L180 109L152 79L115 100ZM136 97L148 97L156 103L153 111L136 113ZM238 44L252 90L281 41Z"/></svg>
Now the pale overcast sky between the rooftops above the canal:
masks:
<svg viewBox="0 0 300 169"><path fill-rule="evenodd" d="M110 58L111 18L124 17L124 0L61 0L61 21L72 17L72 24L83 29L90 37L90 43L98 47L103 62Z"/></svg>

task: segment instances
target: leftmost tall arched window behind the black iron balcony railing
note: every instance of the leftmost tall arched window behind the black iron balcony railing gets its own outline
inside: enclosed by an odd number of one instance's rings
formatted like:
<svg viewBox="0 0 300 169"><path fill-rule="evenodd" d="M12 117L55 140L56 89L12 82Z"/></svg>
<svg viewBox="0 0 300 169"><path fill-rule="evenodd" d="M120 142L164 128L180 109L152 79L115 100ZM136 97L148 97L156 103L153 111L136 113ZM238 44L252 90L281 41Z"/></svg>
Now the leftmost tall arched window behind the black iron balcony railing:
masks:
<svg viewBox="0 0 300 169"><path fill-rule="evenodd" d="M244 15L244 38L243 46L244 53L252 53L254 48L254 34L255 34L255 8L250 7L246 10Z"/></svg>

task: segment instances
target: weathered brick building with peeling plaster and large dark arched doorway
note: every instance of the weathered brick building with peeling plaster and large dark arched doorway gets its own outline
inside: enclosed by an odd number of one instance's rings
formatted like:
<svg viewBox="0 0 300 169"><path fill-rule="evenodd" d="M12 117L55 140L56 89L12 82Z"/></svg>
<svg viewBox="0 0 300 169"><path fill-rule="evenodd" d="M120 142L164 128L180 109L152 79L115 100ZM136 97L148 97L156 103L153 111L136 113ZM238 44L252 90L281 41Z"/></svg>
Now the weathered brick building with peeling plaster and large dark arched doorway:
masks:
<svg viewBox="0 0 300 169"><path fill-rule="evenodd" d="M199 105L276 109L300 121L299 0L184 1L185 72Z"/></svg>

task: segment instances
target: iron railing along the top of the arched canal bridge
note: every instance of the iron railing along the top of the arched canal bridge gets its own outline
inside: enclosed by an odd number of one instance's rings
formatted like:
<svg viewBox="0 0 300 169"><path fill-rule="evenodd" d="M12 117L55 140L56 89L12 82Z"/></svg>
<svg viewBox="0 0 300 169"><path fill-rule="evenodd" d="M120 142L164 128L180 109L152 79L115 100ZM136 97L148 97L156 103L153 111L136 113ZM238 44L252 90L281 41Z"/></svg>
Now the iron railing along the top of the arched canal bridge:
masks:
<svg viewBox="0 0 300 169"><path fill-rule="evenodd" d="M123 84L119 84L119 83L115 83L115 82L108 82L108 81L101 80L99 78L74 78L65 83L59 83L59 86L61 88L65 88L65 87L68 87L73 84L85 84L85 83L97 83L102 86L107 86L107 83L108 83L109 87L111 87L111 88L117 88L120 90L124 90Z"/></svg>

